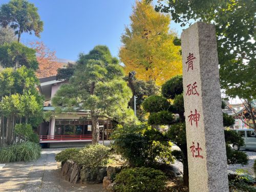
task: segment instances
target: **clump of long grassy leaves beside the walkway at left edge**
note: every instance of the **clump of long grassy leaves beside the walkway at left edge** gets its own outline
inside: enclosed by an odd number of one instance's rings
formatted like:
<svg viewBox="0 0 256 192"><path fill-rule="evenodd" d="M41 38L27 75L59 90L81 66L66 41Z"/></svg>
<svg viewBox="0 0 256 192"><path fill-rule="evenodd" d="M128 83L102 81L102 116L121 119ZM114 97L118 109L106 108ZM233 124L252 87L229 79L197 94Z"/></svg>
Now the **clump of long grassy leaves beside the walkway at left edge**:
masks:
<svg viewBox="0 0 256 192"><path fill-rule="evenodd" d="M40 157L41 147L38 143L23 142L0 148L0 163L32 161Z"/></svg>

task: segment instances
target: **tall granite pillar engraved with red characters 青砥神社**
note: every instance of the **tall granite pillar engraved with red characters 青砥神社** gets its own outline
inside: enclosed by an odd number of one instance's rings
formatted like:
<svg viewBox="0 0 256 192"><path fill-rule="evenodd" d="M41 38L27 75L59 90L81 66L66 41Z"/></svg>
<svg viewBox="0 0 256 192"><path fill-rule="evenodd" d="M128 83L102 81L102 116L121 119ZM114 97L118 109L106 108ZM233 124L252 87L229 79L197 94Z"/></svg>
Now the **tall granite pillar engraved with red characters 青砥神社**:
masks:
<svg viewBox="0 0 256 192"><path fill-rule="evenodd" d="M181 34L189 191L228 191L215 26Z"/></svg>

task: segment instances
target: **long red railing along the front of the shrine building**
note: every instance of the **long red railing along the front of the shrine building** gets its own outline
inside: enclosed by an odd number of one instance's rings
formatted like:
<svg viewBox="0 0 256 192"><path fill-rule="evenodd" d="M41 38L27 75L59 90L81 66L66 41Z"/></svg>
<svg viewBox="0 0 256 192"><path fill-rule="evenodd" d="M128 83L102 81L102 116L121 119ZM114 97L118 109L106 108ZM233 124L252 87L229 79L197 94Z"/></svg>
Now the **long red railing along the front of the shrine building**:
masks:
<svg viewBox="0 0 256 192"><path fill-rule="evenodd" d="M40 141L90 140L92 135L40 135Z"/></svg>

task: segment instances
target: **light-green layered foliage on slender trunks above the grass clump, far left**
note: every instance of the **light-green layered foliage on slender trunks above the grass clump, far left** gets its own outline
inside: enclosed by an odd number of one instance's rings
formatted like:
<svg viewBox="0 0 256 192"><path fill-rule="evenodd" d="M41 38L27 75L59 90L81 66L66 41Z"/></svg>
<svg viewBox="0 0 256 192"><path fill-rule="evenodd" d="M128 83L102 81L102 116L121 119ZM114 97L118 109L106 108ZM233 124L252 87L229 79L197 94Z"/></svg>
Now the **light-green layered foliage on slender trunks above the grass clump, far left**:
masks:
<svg viewBox="0 0 256 192"><path fill-rule="evenodd" d="M42 121L42 97L36 90L39 84L32 69L25 66L0 72L0 145L14 142L16 123L38 126Z"/></svg>

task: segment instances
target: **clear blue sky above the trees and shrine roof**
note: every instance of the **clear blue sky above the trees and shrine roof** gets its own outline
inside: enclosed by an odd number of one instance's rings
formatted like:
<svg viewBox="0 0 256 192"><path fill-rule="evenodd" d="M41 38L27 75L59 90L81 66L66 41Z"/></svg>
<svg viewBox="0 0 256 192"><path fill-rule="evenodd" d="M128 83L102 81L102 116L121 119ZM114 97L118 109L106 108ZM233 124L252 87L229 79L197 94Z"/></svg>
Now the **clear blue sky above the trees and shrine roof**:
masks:
<svg viewBox="0 0 256 192"><path fill-rule="evenodd" d="M0 4L9 0L1 0ZM41 38L22 34L22 42L41 40L58 58L76 60L78 54L88 53L96 45L106 45L114 56L121 46L120 36L135 0L29 0L38 8L44 31ZM172 22L178 34L181 27Z"/></svg>

